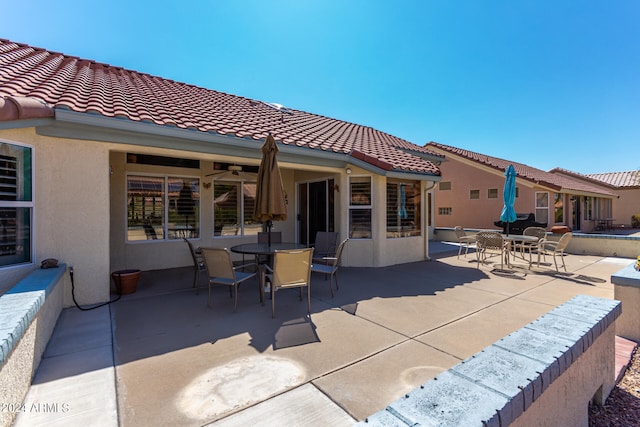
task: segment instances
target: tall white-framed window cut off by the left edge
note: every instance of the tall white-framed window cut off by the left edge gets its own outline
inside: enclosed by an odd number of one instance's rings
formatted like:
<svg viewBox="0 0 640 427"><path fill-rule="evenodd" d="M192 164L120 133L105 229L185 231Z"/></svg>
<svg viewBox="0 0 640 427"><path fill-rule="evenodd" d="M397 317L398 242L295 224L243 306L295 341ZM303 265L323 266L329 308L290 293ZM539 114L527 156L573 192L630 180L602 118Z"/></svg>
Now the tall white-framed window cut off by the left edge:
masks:
<svg viewBox="0 0 640 427"><path fill-rule="evenodd" d="M0 142L0 267L32 262L32 149Z"/></svg>

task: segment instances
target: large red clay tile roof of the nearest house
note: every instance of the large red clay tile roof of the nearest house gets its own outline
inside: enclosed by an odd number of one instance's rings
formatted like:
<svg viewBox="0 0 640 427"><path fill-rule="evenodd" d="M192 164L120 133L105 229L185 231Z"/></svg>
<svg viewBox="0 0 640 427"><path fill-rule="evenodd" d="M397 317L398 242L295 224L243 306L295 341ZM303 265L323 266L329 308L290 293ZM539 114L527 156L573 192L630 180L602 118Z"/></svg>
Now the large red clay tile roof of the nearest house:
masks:
<svg viewBox="0 0 640 427"><path fill-rule="evenodd" d="M349 154L383 170L440 175L429 157L437 161L437 154L371 127L4 39L0 39L2 97L37 99L54 109L238 138L264 140L271 133L282 144Z"/></svg>

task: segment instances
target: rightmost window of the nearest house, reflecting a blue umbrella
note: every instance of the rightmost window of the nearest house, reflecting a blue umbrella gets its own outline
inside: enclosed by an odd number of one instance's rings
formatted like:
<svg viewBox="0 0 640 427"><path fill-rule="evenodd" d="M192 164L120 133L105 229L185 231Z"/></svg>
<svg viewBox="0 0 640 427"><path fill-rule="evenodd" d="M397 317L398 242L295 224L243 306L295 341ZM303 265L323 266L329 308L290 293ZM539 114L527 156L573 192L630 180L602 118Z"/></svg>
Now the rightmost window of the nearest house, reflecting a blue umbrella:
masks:
<svg viewBox="0 0 640 427"><path fill-rule="evenodd" d="M387 181L387 237L420 235L420 182Z"/></svg>

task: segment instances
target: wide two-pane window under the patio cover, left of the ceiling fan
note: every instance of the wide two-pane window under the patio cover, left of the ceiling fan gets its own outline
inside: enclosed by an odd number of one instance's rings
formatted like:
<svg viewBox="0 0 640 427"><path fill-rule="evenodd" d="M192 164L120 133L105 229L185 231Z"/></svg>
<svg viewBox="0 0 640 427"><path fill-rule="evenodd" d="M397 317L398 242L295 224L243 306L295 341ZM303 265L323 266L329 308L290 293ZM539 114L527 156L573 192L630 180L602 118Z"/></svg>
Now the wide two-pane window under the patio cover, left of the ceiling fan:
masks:
<svg viewBox="0 0 640 427"><path fill-rule="evenodd" d="M198 178L128 176L127 197L127 240L200 236Z"/></svg>

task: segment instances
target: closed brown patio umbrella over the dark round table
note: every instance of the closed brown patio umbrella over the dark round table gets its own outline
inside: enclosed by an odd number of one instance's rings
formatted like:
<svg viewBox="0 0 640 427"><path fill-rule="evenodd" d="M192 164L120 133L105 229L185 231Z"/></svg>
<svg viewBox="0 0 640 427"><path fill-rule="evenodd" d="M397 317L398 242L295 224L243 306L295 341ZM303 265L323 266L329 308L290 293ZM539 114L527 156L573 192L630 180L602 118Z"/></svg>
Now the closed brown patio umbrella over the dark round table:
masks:
<svg viewBox="0 0 640 427"><path fill-rule="evenodd" d="M273 136L269 134L262 146L262 161L258 168L256 185L256 201L253 219L266 222L268 245L271 246L271 227L273 221L287 219L287 205L284 201L282 177L278 168L278 146Z"/></svg>

